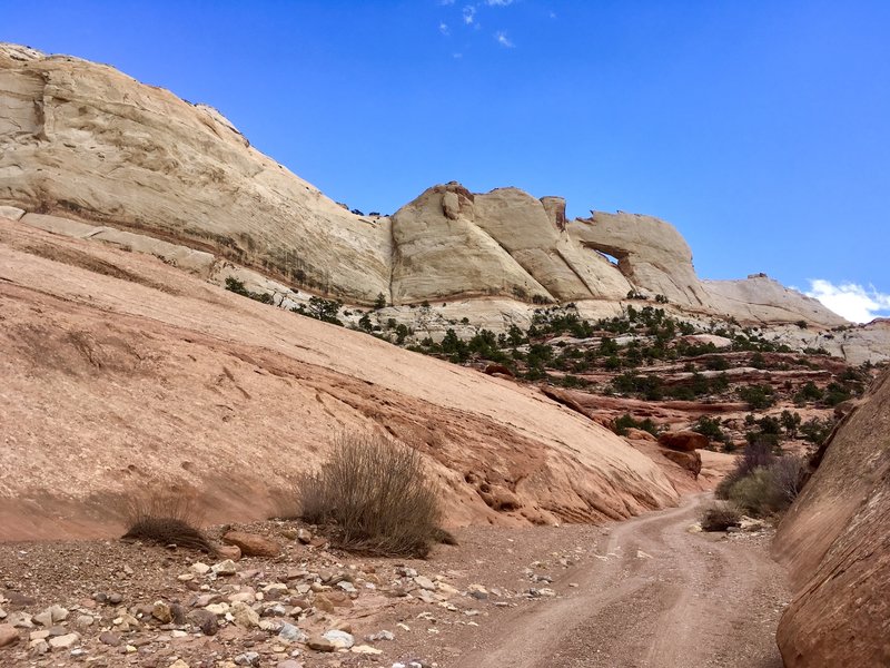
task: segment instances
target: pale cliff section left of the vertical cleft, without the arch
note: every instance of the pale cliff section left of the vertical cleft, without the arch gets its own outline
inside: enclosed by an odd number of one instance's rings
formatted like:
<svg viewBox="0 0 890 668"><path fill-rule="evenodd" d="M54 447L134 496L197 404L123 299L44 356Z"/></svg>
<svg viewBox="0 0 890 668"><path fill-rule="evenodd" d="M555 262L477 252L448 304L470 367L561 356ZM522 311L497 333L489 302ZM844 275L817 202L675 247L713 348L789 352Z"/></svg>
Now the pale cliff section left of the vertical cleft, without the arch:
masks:
<svg viewBox="0 0 890 668"><path fill-rule="evenodd" d="M385 219L339 207L210 107L0 45L0 204L186 242L345 298L389 292Z"/></svg>

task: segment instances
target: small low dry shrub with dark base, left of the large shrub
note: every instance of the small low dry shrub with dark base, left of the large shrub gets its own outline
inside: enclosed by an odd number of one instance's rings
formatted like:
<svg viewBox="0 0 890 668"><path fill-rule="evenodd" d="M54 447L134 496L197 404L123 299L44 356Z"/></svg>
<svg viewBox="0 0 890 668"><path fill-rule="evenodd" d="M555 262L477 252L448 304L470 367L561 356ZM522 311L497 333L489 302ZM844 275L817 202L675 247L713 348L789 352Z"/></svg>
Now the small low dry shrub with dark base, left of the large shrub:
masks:
<svg viewBox="0 0 890 668"><path fill-rule="evenodd" d="M197 528L200 515L192 499L154 494L131 499L126 505L125 540L142 540L161 546L175 544L214 553L214 547Z"/></svg>

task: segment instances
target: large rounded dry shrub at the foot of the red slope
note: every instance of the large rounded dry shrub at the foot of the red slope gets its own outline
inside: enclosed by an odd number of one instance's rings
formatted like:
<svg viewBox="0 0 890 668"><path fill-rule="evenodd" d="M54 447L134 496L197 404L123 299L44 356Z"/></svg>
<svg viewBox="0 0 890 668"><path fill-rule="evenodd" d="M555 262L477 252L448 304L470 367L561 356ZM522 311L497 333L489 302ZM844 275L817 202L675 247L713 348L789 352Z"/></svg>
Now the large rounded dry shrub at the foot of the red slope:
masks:
<svg viewBox="0 0 890 668"><path fill-rule="evenodd" d="M328 528L339 547L426 557L442 538L438 499L421 454L373 434L343 434L299 491L304 520Z"/></svg>

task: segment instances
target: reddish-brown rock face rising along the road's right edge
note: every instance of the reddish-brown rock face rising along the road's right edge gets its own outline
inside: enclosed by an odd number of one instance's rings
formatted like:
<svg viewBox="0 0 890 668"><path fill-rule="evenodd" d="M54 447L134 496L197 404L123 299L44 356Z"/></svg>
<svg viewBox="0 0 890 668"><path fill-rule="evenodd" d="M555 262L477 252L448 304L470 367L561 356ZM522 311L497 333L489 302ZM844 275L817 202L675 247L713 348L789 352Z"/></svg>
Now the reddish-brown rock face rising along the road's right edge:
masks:
<svg viewBox="0 0 890 668"><path fill-rule="evenodd" d="M774 544L794 590L784 665L890 665L890 372L844 418Z"/></svg>

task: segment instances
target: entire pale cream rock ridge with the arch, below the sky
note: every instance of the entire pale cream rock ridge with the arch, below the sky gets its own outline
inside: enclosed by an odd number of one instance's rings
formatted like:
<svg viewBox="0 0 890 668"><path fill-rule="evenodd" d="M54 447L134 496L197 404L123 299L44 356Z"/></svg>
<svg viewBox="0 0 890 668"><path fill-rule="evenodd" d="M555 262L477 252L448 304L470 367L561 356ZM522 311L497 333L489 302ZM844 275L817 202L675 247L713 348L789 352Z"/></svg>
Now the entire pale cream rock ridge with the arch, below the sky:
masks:
<svg viewBox="0 0 890 668"><path fill-rule="evenodd" d="M700 281L689 245L650 216L568 222L560 197L473 194L455 183L392 218L354 215L211 107L78 58L0 45L0 207L29 224L51 215L90 226L99 240L148 236L352 304L380 294L395 305L497 297L527 313L533 302L602 312L637 293L755 324L844 322L762 277ZM490 315L473 324L490 326Z"/></svg>

